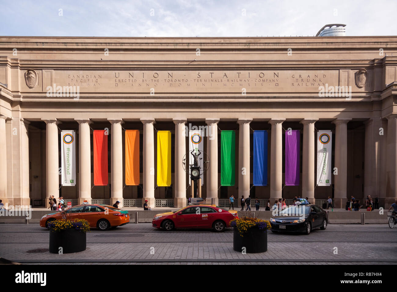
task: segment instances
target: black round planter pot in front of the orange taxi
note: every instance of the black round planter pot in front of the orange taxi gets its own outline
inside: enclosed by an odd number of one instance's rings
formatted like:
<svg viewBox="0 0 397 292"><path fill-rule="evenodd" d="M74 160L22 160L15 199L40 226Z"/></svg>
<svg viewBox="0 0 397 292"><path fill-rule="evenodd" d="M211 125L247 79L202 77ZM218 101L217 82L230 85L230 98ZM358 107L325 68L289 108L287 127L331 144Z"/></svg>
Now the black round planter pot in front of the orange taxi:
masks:
<svg viewBox="0 0 397 292"><path fill-rule="evenodd" d="M62 247L62 249L60 249ZM87 248L86 234L77 229L52 232L50 230L50 253L74 253Z"/></svg>

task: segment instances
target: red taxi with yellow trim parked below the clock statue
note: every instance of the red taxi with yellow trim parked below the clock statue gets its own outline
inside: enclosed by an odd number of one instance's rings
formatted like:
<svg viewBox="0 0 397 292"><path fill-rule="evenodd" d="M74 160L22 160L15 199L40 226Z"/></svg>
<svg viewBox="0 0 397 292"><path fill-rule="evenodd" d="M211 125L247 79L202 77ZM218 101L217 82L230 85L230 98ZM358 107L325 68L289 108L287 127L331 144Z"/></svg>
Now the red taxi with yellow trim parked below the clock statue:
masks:
<svg viewBox="0 0 397 292"><path fill-rule="evenodd" d="M213 228L217 232L231 227L229 222L237 217L237 211L215 205L192 205L175 212L156 214L152 226L163 230L174 228Z"/></svg>

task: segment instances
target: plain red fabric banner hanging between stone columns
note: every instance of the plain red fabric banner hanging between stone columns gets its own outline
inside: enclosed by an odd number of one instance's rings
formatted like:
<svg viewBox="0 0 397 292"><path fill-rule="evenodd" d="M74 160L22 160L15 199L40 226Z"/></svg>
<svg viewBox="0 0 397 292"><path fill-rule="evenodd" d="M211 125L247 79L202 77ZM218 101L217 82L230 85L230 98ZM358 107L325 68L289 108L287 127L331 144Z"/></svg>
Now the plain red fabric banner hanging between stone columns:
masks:
<svg viewBox="0 0 397 292"><path fill-rule="evenodd" d="M108 135L94 130L94 186L108 185Z"/></svg>

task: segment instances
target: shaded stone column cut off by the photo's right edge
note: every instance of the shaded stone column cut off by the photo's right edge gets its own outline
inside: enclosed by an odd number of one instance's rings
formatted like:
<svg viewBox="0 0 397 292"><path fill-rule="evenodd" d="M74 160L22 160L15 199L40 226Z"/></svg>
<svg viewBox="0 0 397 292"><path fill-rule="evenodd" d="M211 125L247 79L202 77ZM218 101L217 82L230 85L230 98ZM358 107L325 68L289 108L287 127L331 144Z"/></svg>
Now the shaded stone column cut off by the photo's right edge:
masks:
<svg viewBox="0 0 397 292"><path fill-rule="evenodd" d="M385 209L397 198L397 114L387 116L387 164Z"/></svg>

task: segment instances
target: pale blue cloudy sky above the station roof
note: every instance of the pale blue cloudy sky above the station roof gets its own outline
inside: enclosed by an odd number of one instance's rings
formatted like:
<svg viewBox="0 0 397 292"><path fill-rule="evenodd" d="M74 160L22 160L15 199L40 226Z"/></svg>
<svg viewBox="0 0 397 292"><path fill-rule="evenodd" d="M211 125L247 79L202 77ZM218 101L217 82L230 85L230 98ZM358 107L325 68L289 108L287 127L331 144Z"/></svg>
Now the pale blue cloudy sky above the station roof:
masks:
<svg viewBox="0 0 397 292"><path fill-rule="evenodd" d="M0 0L1 36L314 36L346 24L347 36L397 35L396 0Z"/></svg>

